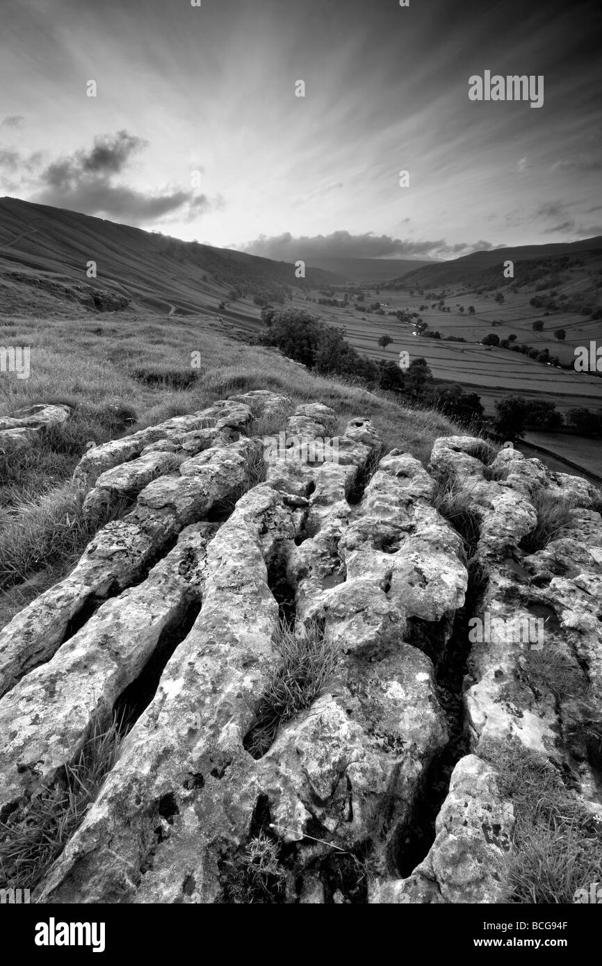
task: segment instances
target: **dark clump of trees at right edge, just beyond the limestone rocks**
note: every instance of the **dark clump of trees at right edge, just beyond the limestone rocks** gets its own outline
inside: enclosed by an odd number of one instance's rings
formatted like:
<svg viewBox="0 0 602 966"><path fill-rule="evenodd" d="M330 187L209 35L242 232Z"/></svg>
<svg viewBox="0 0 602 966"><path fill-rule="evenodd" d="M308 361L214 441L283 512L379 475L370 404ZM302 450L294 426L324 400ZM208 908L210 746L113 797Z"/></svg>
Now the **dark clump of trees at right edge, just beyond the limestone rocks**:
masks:
<svg viewBox="0 0 602 966"><path fill-rule="evenodd" d="M563 427L584 436L600 437L602 410L592 412L585 406L578 406L562 416L556 403L529 400L524 396L506 396L496 403L494 428L504 440L516 440L526 429L553 433Z"/></svg>

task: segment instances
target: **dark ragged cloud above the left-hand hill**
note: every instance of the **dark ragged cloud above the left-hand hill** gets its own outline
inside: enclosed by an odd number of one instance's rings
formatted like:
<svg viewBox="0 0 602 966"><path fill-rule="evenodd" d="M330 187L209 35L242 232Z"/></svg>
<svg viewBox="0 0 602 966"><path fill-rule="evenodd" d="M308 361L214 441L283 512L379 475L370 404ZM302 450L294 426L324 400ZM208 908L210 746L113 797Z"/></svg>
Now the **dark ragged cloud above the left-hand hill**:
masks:
<svg viewBox="0 0 602 966"><path fill-rule="evenodd" d="M154 221L170 213L192 221L212 208L205 194L171 190L148 194L115 184L131 156L148 147L142 138L120 130L95 139L90 151L76 151L53 161L42 172L34 201L85 214L126 219L134 224Z"/></svg>

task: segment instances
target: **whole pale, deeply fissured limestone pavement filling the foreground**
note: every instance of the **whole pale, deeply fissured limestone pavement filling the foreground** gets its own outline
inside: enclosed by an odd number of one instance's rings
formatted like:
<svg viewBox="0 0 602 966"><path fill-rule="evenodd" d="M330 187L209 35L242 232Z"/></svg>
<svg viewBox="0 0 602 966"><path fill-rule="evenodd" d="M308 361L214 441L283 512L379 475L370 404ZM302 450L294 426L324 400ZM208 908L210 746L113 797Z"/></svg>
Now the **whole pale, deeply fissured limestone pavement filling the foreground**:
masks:
<svg viewBox="0 0 602 966"><path fill-rule="evenodd" d="M0 631L0 810L26 812L97 711L127 727L39 901L231 901L259 833L280 847L273 901L503 901L515 817L490 739L545 754L602 810L586 726L602 691L594 489L516 450L483 462L470 437L436 440L425 469L383 455L361 417L337 460L307 462L293 442L329 438L335 413L292 410L232 396L76 469L87 513L131 506ZM264 467L257 418L285 434ZM442 479L468 516L444 510ZM542 493L568 509L536 549ZM332 665L266 731L283 626L319 629Z"/></svg>

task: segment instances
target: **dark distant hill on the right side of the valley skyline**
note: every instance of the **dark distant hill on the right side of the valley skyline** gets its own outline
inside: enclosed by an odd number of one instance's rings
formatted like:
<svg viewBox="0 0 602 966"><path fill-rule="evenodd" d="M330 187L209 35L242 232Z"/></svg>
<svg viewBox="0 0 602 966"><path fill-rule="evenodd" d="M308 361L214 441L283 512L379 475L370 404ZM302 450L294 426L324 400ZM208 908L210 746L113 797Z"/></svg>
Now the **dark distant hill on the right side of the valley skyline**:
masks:
<svg viewBox="0 0 602 966"><path fill-rule="evenodd" d="M492 279L503 280L503 263L529 262L532 266L550 261L550 268L569 264L571 260L602 263L602 236L585 241L565 241L542 245L516 245L510 248L494 248L489 251L475 251L449 262L438 262L423 266L414 271L402 272L393 279L387 288L424 288L455 284L474 285L487 283ZM515 270L515 280L520 272Z"/></svg>

